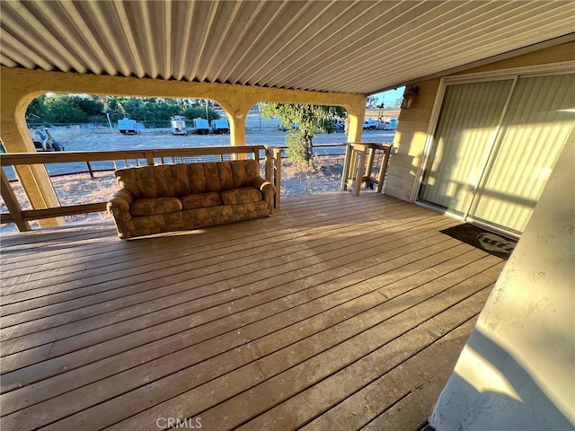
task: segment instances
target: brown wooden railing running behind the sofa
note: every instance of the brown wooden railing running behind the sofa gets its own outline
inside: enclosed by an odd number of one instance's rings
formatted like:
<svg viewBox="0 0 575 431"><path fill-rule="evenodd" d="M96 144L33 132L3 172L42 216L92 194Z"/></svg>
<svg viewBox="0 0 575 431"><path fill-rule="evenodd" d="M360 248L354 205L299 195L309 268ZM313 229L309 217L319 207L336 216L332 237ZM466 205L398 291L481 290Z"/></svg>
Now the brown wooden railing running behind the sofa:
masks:
<svg viewBox="0 0 575 431"><path fill-rule="evenodd" d="M249 157L254 160L263 160L265 178L274 184L276 193L276 207L279 207L279 187L281 185L281 149L267 145L243 146L210 146L194 148L165 148L126 151L101 152L61 152L61 153L8 153L2 154L0 192L8 213L0 214L0 223L14 223L21 232L31 231L30 222L46 218L61 216L75 216L106 210L106 202L93 202L82 205L69 205L50 208L22 209L16 198L13 181L9 180L5 169L9 166L51 164L51 163L87 163L91 170L91 162L111 162L111 169L127 166L155 165L160 163L185 163L193 161L230 160L234 158ZM106 170L101 170L106 171ZM78 173L78 172L75 172Z"/></svg>

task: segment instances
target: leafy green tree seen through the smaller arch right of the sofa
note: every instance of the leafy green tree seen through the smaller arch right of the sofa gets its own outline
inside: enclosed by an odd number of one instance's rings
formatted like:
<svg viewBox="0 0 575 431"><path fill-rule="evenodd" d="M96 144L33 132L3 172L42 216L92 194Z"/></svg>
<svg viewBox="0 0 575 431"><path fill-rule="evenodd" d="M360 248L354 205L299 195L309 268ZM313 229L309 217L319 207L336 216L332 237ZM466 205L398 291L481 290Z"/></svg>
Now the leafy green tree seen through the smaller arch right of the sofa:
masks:
<svg viewBox="0 0 575 431"><path fill-rule="evenodd" d="M319 132L332 132L333 120L346 116L340 106L301 103L261 103L260 110L265 118L279 117L282 126L288 128L288 158L301 165L313 163L314 136Z"/></svg>

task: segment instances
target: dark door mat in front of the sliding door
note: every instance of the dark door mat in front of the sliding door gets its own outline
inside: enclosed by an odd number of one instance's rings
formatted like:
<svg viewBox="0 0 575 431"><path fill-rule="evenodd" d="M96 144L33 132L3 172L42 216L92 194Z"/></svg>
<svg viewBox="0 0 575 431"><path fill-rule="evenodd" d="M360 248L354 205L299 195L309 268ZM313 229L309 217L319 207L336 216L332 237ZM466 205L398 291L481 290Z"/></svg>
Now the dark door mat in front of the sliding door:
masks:
<svg viewBox="0 0 575 431"><path fill-rule="evenodd" d="M502 236L499 233L492 233L473 224L458 224L440 232L506 260L509 259L511 252L517 245L516 240Z"/></svg>

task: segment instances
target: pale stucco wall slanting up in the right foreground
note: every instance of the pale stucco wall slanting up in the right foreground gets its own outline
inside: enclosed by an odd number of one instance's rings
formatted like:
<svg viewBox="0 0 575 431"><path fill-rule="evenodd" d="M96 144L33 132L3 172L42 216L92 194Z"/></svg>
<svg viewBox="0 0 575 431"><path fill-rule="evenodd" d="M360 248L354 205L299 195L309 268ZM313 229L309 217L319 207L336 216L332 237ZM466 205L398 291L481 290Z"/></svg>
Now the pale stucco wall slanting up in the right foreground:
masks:
<svg viewBox="0 0 575 431"><path fill-rule="evenodd" d="M574 151L571 140L439 397L437 431L575 426Z"/></svg>

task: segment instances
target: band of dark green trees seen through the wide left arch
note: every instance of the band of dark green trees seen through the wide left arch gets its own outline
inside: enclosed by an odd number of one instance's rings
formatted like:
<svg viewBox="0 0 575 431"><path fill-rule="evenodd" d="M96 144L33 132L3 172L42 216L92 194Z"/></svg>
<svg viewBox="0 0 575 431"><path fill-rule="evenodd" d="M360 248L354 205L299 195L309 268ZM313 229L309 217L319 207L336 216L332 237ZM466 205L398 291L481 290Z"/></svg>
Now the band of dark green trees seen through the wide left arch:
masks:
<svg viewBox="0 0 575 431"><path fill-rule="evenodd" d="M212 102L208 102L213 105ZM164 99L155 97L91 96L79 94L43 94L31 101L26 111L30 124L42 123L112 123L125 116L148 124L170 124L174 115L188 119L206 118L205 101L195 99ZM219 119L213 107L208 107L209 119Z"/></svg>

